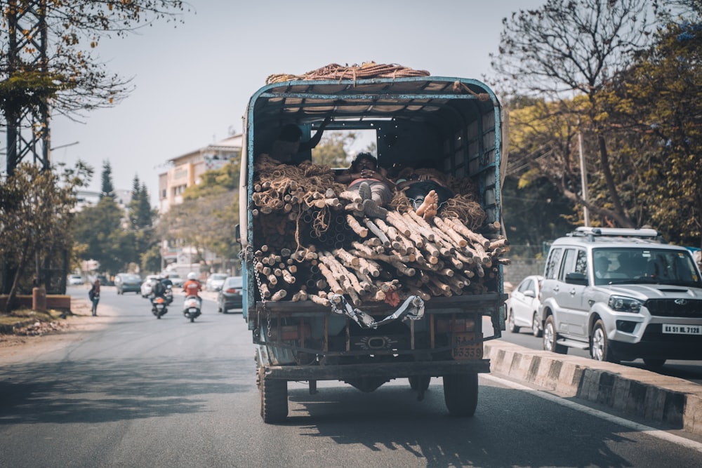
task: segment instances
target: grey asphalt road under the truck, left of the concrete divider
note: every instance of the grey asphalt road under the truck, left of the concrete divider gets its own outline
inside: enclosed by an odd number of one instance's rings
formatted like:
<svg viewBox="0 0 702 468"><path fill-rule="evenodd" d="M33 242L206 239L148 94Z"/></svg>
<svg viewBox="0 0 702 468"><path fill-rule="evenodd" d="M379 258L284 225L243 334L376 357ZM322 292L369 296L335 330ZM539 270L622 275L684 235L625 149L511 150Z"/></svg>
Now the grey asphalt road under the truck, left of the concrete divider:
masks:
<svg viewBox="0 0 702 468"><path fill-rule="evenodd" d="M84 290L77 294L84 295ZM180 299L176 299L176 303ZM86 318L89 320L91 318ZM289 385L263 424L240 314L206 301L190 323L104 288L93 330L0 362L1 467L698 466L702 440L481 375L475 417L449 417L441 382L364 394ZM70 333L70 332L69 332Z"/></svg>

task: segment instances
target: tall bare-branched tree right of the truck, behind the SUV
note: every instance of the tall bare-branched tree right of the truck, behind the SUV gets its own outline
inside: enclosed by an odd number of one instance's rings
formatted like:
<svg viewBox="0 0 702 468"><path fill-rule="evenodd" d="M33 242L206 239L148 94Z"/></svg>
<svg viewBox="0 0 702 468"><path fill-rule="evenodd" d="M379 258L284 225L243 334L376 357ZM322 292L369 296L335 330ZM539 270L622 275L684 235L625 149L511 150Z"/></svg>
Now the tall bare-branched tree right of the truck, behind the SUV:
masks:
<svg viewBox="0 0 702 468"><path fill-rule="evenodd" d="M519 11L510 20L503 20L500 55L493 61L515 93L553 103L557 113L543 116L580 116L581 121L569 129L564 141L572 142L581 129L583 137L594 140L590 146L599 155L611 208L572 196L582 193L576 178L554 182L577 203L607 213L625 227L634 227L634 223L621 203L612 175L606 115L602 114L599 98L602 88L632 63L633 53L647 45L647 8L645 0L547 0L538 10ZM555 162L542 161L542 168ZM561 162L565 161L579 166L570 156ZM564 167L562 173L571 169Z"/></svg>

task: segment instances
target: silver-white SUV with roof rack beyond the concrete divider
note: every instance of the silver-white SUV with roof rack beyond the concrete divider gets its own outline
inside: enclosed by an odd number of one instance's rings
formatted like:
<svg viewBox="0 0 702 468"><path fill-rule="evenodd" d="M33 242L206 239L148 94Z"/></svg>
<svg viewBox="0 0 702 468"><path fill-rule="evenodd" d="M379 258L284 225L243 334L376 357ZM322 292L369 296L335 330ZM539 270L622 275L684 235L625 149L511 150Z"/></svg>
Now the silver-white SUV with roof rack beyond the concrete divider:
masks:
<svg viewBox="0 0 702 468"><path fill-rule="evenodd" d="M702 359L699 269L654 229L579 227L554 241L543 276L543 349L649 367Z"/></svg>

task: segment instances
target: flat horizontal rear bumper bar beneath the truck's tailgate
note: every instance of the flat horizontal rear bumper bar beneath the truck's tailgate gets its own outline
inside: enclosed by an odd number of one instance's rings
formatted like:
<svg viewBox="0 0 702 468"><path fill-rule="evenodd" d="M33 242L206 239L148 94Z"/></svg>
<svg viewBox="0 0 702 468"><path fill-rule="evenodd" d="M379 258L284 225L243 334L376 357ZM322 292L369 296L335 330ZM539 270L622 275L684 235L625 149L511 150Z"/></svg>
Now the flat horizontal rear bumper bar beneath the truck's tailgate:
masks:
<svg viewBox="0 0 702 468"><path fill-rule="evenodd" d="M430 375L488 373L489 359L471 361L427 361L410 363L346 364L342 366L266 366L265 375L281 380L349 380L359 377L395 379Z"/></svg>

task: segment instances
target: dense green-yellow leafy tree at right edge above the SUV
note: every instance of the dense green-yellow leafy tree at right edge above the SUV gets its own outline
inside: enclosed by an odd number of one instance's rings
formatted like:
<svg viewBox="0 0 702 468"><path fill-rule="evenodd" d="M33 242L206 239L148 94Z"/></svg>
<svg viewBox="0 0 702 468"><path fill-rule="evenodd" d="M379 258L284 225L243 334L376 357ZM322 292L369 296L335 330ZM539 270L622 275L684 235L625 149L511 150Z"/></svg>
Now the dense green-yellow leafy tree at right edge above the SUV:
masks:
<svg viewBox="0 0 702 468"><path fill-rule="evenodd" d="M607 91L608 114L642 149L633 161L642 204L670 241L702 244L702 1L661 12L653 46Z"/></svg>

